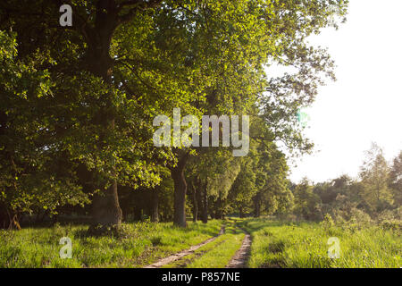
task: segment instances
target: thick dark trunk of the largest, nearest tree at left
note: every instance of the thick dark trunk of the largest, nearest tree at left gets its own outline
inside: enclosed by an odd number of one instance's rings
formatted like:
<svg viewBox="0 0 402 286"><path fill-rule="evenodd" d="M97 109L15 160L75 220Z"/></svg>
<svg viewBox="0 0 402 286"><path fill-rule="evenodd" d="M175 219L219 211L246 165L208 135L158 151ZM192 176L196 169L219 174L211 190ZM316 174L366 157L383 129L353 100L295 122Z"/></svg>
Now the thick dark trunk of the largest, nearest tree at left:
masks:
<svg viewBox="0 0 402 286"><path fill-rule="evenodd" d="M85 22L81 22L75 26L80 27L79 30L88 44L86 53L88 71L101 77L106 84L111 84L113 78L114 61L110 56L110 44L114 30L121 24L119 11L119 7L115 1L98 0L96 2L93 26L91 27ZM76 21L82 21L80 17L76 17L75 19ZM112 95L105 94L102 99L105 101L105 105L101 108L99 114L97 114L97 123L104 128L104 131L99 134L100 142L102 142L107 132L113 132L115 123ZM103 148L107 147L100 146L100 149ZM113 177L113 179L110 179L111 181L103 183L104 186L107 185L110 187L104 189L93 201L93 223L89 231L99 224L103 227L121 225L122 214L117 193L117 174L114 173Z"/></svg>

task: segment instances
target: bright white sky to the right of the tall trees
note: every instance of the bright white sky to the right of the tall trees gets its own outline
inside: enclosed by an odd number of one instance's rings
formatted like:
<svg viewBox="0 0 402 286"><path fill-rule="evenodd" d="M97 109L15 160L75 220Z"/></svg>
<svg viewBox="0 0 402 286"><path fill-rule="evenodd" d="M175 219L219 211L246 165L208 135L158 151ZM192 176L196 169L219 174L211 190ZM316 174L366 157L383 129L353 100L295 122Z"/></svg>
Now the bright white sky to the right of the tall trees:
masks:
<svg viewBox="0 0 402 286"><path fill-rule="evenodd" d="M306 109L315 151L290 167L292 181L355 177L372 141L387 160L402 150L401 13L400 0L350 0L347 23L311 41L329 48L338 80Z"/></svg>

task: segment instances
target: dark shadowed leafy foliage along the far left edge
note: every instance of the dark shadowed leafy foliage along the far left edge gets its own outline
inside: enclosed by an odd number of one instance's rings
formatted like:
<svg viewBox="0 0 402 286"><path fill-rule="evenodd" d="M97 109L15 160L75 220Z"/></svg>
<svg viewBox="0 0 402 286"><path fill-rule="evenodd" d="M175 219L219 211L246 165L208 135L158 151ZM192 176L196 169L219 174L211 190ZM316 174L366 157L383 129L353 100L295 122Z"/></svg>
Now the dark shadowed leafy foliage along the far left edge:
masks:
<svg viewBox="0 0 402 286"><path fill-rule="evenodd" d="M89 202L42 116L53 83L41 66L52 61L40 53L23 59L16 34L0 30L0 227L18 228L22 213Z"/></svg>

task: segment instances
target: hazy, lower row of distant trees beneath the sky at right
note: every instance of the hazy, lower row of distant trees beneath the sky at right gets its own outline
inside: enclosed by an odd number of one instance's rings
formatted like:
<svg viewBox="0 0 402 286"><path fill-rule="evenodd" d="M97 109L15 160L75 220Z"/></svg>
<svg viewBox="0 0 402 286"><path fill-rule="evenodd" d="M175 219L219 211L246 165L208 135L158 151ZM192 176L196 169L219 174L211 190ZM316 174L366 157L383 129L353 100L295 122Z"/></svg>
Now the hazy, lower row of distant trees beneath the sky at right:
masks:
<svg viewBox="0 0 402 286"><path fill-rule="evenodd" d="M402 219L402 152L391 164L381 147L367 151L359 178L342 175L332 181L312 184L304 179L292 186L293 214L307 220L332 218L357 220Z"/></svg>

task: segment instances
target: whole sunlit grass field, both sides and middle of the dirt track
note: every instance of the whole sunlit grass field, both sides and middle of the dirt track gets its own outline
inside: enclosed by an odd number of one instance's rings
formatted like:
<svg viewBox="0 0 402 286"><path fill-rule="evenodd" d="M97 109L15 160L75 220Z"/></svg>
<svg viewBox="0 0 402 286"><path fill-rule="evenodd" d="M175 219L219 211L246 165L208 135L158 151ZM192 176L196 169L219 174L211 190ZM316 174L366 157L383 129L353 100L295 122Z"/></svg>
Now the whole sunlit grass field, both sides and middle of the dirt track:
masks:
<svg viewBox="0 0 402 286"><path fill-rule="evenodd" d="M400 229L379 226L328 226L325 223L287 223L269 219L212 220L188 223L124 223L121 237L91 237L86 225L59 225L0 231L0 267L141 267L225 233L186 257L163 267L224 267L252 236L249 267L395 267L402 266ZM72 241L72 258L62 259L62 237ZM331 237L339 239L339 258L328 257Z"/></svg>

